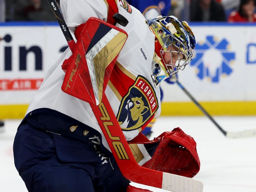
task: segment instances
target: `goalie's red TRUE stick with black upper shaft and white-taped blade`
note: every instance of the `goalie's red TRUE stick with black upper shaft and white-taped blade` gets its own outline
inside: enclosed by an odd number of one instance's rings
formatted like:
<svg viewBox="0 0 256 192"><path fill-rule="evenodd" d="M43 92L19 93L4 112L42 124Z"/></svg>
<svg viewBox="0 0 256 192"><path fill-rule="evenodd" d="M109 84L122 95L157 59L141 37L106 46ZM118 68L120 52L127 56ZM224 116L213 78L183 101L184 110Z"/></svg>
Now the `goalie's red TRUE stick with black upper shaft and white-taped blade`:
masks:
<svg viewBox="0 0 256 192"><path fill-rule="evenodd" d="M51 5L52 11L60 24L63 34L65 35L66 31L64 31L63 26L67 30L68 27L60 14L55 0L48 0L48 2ZM66 39L67 41L74 42L71 35ZM70 44L68 45L70 46ZM72 44L70 48L72 50ZM173 192L203 191L203 183L201 181L171 173L155 171L138 165L134 159L134 156L132 155L130 147L105 94L103 94L102 102L98 106L93 104L90 104L90 106L97 118L112 154L115 157L118 167L126 179L136 183L162 188Z"/></svg>

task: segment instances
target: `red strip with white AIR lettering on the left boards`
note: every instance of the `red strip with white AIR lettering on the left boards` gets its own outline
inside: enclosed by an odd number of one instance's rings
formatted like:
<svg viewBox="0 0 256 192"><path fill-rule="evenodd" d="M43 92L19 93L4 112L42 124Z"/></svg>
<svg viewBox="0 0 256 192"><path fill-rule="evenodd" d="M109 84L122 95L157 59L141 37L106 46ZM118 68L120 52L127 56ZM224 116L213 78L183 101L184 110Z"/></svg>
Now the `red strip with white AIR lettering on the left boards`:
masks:
<svg viewBox="0 0 256 192"><path fill-rule="evenodd" d="M0 91L38 90L44 79L0 79Z"/></svg>

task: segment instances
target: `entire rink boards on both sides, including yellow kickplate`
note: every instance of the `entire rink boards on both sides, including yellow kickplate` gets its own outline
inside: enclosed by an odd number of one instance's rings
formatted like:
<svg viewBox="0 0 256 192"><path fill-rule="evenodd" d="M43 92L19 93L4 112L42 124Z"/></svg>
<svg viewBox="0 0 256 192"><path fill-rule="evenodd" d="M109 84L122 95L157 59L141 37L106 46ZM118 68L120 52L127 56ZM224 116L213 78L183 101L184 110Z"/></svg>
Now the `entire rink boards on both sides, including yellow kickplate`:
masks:
<svg viewBox="0 0 256 192"><path fill-rule="evenodd" d="M190 26L195 57L179 81L212 115L256 115L256 24ZM0 118L20 118L67 43L55 22L2 23L0 37ZM161 87L162 115L202 115L178 85Z"/></svg>

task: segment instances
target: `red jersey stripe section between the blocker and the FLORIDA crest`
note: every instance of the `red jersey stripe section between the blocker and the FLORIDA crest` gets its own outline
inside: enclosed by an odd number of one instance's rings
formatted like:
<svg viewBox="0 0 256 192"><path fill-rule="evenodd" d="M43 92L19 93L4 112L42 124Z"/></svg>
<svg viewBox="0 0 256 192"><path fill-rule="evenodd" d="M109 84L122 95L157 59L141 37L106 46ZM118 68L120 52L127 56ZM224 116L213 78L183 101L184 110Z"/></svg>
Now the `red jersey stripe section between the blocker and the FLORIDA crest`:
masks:
<svg viewBox="0 0 256 192"><path fill-rule="evenodd" d="M121 97L124 97L127 94L129 87L134 84L134 80L124 74L124 72L117 65L114 66L109 80L119 92Z"/></svg>

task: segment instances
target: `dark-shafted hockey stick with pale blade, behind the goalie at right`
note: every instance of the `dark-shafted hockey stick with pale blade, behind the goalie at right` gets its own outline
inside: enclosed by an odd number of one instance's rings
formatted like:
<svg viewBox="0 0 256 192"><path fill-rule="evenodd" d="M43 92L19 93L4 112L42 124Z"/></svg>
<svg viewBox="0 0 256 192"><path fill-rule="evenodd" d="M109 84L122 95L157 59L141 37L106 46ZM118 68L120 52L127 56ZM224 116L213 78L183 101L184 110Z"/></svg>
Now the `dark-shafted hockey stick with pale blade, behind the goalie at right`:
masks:
<svg viewBox="0 0 256 192"><path fill-rule="evenodd" d="M252 130L246 130L246 131L241 131L241 132L227 132L224 129L220 127L220 125L212 118L212 116L200 105L196 99L188 92L185 87L180 84L180 82L177 80L176 83L179 85L179 87L188 95L188 97L196 104L196 106L206 115L213 124L215 124L218 129L226 136L229 138L243 138L243 137L254 137L256 136L256 129Z"/></svg>

